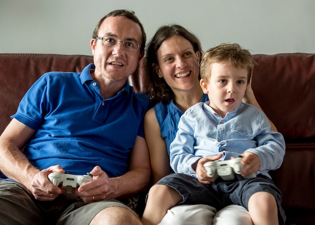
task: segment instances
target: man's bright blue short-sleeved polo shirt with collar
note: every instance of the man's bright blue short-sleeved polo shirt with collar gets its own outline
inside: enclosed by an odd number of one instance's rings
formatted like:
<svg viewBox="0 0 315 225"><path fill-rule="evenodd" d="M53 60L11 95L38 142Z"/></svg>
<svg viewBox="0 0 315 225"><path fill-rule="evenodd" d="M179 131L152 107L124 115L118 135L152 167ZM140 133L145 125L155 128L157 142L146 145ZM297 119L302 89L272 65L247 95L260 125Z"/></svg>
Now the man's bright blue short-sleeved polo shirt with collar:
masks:
<svg viewBox="0 0 315 225"><path fill-rule="evenodd" d="M94 64L81 73L48 72L28 90L12 118L36 130L24 153L35 167L60 164L82 175L100 166L109 177L128 170L137 136L144 137L143 117L150 100L134 93L128 81L104 99L91 77Z"/></svg>

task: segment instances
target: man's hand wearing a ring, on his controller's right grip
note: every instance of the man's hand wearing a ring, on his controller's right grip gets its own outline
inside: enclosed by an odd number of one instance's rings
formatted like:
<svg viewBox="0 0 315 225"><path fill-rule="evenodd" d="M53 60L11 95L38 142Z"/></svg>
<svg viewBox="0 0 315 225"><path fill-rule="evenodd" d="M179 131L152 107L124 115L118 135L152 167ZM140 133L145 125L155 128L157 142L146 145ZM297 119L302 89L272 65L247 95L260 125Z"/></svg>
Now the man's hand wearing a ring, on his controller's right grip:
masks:
<svg viewBox="0 0 315 225"><path fill-rule="evenodd" d="M112 196L114 190L111 188L110 179L101 167L94 167L90 174L93 176L93 180L83 184L77 190L72 190L72 193L80 196L85 202L114 198Z"/></svg>

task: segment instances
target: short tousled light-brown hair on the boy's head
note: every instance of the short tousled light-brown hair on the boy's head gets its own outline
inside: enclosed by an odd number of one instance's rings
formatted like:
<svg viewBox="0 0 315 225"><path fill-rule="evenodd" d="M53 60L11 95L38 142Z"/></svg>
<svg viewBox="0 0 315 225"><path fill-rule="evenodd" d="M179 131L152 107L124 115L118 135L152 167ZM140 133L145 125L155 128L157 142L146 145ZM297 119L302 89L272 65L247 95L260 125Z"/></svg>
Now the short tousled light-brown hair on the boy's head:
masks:
<svg viewBox="0 0 315 225"><path fill-rule="evenodd" d="M213 63L227 63L240 69L247 69L247 83L250 83L254 65L257 65L252 54L239 44L220 44L207 50L200 63L200 76L206 82L211 76Z"/></svg>

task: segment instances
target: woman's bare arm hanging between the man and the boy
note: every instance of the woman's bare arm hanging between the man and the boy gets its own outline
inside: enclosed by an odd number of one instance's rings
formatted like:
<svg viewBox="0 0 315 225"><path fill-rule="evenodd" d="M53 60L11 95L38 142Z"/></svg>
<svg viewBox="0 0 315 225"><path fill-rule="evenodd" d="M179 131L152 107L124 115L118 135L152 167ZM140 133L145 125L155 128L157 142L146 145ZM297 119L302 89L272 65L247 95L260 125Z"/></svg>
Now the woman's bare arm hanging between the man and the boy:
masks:
<svg viewBox="0 0 315 225"><path fill-rule="evenodd" d="M144 116L145 141L149 150L153 184L171 173L170 157L160 126L157 123L154 109L151 108Z"/></svg>

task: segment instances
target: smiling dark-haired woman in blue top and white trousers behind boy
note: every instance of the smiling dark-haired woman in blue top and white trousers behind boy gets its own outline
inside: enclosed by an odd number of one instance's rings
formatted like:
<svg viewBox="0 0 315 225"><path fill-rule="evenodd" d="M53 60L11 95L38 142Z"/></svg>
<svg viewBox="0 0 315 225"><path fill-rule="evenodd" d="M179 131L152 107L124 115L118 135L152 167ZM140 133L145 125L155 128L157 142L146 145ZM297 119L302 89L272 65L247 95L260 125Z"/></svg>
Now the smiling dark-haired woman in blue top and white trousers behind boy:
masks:
<svg viewBox="0 0 315 225"><path fill-rule="evenodd" d="M160 27L147 45L147 93L159 102L144 117L153 184L172 172L170 144L176 136L180 117L190 106L208 100L199 84L201 56L198 38L180 25ZM251 86L247 88L243 101L260 108ZM270 124L276 131L275 126ZM207 205L175 206L160 224L187 224L188 221L195 224L237 224L236 221L252 224L248 211L241 206L230 205L215 212Z"/></svg>

